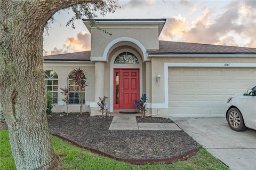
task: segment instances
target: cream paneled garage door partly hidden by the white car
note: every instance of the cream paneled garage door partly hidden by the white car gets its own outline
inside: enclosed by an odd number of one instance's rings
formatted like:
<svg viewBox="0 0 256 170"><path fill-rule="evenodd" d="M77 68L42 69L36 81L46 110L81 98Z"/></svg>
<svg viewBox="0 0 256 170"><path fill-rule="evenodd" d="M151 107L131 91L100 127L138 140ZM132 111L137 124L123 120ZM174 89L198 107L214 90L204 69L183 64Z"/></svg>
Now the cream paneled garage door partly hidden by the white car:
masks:
<svg viewBox="0 0 256 170"><path fill-rule="evenodd" d="M255 85L255 68L169 68L169 115L224 116L227 99Z"/></svg>

